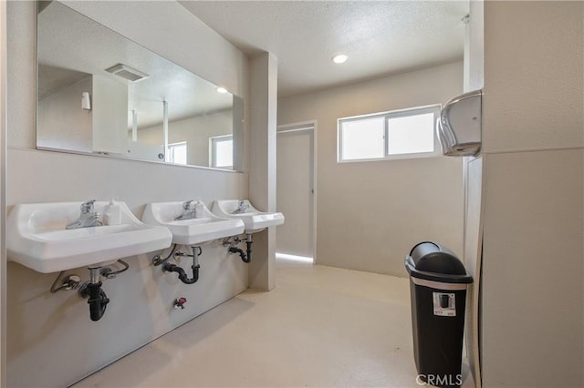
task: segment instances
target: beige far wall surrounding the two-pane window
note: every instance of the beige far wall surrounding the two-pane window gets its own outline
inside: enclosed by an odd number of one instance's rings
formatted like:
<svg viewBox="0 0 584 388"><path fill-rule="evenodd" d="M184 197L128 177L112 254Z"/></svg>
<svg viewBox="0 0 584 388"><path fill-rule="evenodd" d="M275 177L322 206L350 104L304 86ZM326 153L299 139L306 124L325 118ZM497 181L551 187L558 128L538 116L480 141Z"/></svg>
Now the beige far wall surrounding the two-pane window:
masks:
<svg viewBox="0 0 584 388"><path fill-rule="evenodd" d="M319 264L404 277L404 255L423 240L462 257L461 158L337 163L337 118L440 104L462 91L458 62L278 101L278 125L317 120Z"/></svg>

